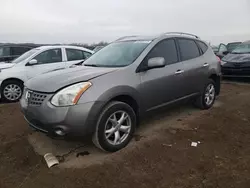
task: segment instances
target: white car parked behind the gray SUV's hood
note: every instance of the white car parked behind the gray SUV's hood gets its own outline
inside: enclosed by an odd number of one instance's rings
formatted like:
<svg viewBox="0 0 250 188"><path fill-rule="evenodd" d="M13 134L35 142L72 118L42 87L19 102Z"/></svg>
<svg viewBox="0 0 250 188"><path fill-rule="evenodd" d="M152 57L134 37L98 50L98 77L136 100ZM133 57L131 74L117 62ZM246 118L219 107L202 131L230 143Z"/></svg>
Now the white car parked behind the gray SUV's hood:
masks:
<svg viewBox="0 0 250 188"><path fill-rule="evenodd" d="M93 51L76 46L41 46L11 63L0 63L0 98L6 102L18 101L23 83L30 78L77 65L92 54Z"/></svg>

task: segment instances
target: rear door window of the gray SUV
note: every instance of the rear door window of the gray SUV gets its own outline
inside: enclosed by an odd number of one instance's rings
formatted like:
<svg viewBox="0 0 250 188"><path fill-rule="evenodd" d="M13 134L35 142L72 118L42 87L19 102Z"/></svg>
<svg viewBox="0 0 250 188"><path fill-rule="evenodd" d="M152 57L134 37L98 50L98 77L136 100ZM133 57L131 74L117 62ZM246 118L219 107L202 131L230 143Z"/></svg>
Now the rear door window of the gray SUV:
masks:
<svg viewBox="0 0 250 188"><path fill-rule="evenodd" d="M178 39L182 61L200 56L199 48L193 40Z"/></svg>

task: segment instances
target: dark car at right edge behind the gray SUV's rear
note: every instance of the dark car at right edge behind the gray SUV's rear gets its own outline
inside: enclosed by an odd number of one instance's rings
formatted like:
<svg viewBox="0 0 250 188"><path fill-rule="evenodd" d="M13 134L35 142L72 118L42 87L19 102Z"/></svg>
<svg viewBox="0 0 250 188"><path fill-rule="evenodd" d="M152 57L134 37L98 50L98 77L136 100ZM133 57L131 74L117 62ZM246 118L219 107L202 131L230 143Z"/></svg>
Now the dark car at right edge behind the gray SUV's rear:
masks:
<svg viewBox="0 0 250 188"><path fill-rule="evenodd" d="M250 41L238 45L221 61L224 77L250 77Z"/></svg>

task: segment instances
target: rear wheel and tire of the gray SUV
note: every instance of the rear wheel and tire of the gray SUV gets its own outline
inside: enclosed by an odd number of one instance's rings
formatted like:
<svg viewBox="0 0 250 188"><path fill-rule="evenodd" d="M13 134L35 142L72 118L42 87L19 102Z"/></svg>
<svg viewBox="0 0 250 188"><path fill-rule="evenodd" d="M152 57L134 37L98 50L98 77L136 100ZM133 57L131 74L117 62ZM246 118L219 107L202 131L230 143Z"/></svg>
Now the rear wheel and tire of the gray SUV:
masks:
<svg viewBox="0 0 250 188"><path fill-rule="evenodd" d="M208 90L209 87L213 87L213 91L210 93L210 101L208 102L207 97L208 97ZM208 80L206 83L202 94L195 100L194 105L202 110L207 110L211 108L214 104L215 98L216 98L216 91L215 91L215 82L211 79ZM211 89L211 88L210 88Z"/></svg>

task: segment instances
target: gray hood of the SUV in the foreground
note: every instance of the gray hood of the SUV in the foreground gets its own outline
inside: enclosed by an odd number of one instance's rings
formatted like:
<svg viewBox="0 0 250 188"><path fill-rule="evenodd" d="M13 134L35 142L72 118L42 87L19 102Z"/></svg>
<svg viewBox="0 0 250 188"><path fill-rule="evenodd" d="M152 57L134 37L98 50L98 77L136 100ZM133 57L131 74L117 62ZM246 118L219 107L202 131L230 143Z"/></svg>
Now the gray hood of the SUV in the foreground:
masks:
<svg viewBox="0 0 250 188"><path fill-rule="evenodd" d="M118 68L79 66L36 76L25 83L30 90L40 92L55 92L65 86L91 80L108 74Z"/></svg>

